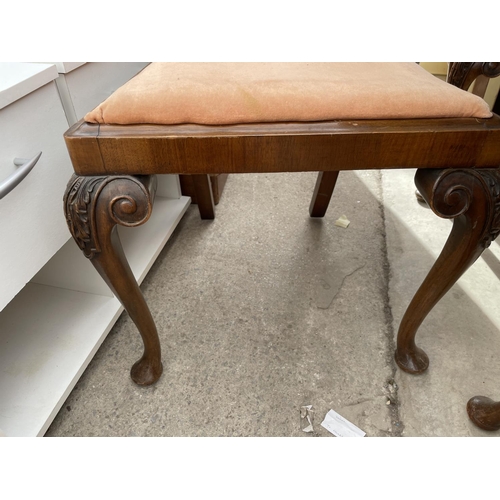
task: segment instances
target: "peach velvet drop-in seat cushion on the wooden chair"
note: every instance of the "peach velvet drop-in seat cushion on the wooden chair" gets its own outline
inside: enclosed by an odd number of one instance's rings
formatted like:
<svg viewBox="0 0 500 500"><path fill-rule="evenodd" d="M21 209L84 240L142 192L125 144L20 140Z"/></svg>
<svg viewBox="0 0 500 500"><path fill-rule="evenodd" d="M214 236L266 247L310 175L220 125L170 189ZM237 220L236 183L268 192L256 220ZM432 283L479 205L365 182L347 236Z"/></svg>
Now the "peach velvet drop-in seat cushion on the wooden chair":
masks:
<svg viewBox="0 0 500 500"><path fill-rule="evenodd" d="M415 63L152 63L85 120L220 125L491 116L481 98Z"/></svg>

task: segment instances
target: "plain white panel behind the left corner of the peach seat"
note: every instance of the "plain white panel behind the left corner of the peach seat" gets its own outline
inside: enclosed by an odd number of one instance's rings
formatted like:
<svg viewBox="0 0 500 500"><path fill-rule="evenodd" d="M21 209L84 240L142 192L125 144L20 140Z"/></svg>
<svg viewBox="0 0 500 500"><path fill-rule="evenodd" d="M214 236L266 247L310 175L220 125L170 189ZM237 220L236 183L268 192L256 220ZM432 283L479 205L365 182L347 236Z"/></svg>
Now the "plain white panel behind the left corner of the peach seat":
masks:
<svg viewBox="0 0 500 500"><path fill-rule="evenodd" d="M66 80L76 120L83 118L148 64L147 62L93 62L60 77Z"/></svg>

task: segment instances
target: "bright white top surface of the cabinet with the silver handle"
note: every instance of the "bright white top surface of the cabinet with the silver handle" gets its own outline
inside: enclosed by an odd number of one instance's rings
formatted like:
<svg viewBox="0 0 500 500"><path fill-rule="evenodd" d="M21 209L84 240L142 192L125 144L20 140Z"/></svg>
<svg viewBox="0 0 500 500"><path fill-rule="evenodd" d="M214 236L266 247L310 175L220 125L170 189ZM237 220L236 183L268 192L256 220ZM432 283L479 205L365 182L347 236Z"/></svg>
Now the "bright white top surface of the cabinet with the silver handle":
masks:
<svg viewBox="0 0 500 500"><path fill-rule="evenodd" d="M58 76L53 64L0 63L0 109L54 81Z"/></svg>

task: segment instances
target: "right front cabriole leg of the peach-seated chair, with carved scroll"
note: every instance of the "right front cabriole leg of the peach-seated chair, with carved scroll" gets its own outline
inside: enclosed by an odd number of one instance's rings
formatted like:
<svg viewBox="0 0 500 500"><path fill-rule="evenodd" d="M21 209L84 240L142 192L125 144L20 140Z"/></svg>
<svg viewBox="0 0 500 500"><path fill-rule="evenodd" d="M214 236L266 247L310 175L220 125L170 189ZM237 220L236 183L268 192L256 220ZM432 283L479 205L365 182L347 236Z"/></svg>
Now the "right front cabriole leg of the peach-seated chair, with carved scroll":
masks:
<svg viewBox="0 0 500 500"><path fill-rule="evenodd" d="M420 169L415 184L434 213L453 219L450 236L399 327L396 362L418 374L429 366L429 358L415 344L419 326L500 232L500 169Z"/></svg>

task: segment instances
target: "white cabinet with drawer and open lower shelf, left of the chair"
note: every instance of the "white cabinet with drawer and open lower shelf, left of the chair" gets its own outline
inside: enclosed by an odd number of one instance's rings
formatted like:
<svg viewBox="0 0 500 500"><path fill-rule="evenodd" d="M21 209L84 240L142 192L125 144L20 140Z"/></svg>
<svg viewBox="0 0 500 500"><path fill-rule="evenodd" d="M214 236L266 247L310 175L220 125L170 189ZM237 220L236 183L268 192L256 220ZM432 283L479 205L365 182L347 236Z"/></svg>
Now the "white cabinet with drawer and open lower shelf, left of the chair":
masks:
<svg viewBox="0 0 500 500"><path fill-rule="evenodd" d="M0 64L0 183L42 151L0 200L0 435L45 433L123 310L66 227L63 133L145 65ZM139 282L189 203L177 176L159 176L151 219L119 228Z"/></svg>

